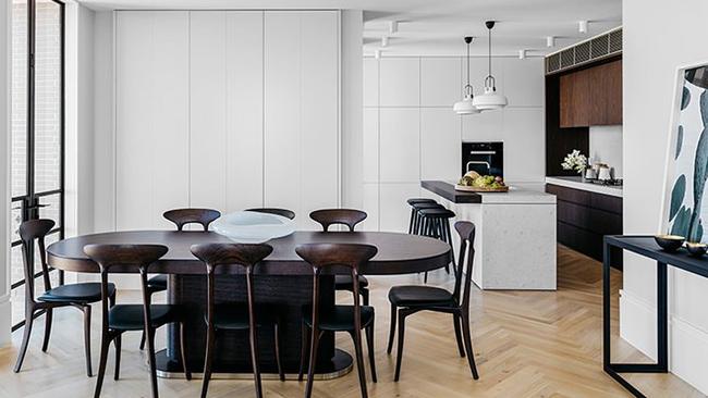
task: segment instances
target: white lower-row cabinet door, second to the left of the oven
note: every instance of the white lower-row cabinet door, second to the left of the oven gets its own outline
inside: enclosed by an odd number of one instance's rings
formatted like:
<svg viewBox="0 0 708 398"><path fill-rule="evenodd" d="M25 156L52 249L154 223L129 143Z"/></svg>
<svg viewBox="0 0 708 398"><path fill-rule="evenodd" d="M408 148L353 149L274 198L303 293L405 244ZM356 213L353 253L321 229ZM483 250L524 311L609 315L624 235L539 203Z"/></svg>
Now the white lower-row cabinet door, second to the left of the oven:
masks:
<svg viewBox="0 0 708 398"><path fill-rule="evenodd" d="M418 108L379 111L379 164L382 183L420 179L420 112Z"/></svg>

